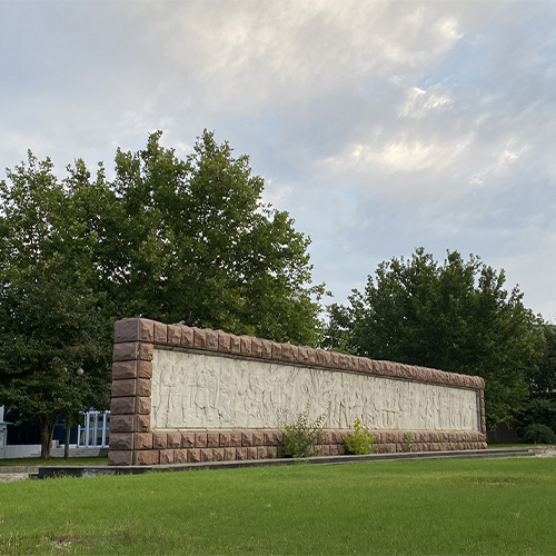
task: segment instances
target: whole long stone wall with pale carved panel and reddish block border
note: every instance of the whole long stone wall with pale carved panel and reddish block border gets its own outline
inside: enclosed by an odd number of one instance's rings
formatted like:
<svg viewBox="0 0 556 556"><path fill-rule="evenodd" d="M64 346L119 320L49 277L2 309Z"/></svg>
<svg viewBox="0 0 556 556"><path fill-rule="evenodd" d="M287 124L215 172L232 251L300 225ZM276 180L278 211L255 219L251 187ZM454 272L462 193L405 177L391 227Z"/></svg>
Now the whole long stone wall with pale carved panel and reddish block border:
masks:
<svg viewBox="0 0 556 556"><path fill-rule="evenodd" d="M325 456L360 418L379 451L486 447L484 380L248 336L116 322L110 465L278 457L284 425L322 415Z"/></svg>

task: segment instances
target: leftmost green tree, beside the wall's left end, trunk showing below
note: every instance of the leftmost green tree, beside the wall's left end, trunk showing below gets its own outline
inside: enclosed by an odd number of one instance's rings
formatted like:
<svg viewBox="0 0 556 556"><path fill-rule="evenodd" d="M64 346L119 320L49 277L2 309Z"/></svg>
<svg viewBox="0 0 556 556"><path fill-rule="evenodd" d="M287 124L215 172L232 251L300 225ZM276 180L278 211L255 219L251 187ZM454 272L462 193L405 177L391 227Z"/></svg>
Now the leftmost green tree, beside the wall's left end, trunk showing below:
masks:
<svg viewBox="0 0 556 556"><path fill-rule="evenodd" d="M0 182L0 405L38 420L42 457L60 415L108 399L109 322L81 236L76 171L59 182L50 160L29 153Z"/></svg>

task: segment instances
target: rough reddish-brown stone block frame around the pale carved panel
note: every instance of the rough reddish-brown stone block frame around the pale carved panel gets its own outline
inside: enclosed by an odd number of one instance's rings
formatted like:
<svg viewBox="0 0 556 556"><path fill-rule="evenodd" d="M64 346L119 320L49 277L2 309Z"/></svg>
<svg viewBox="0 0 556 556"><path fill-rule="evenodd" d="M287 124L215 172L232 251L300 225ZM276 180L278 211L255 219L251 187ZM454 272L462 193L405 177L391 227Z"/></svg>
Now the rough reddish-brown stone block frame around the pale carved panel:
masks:
<svg viewBox="0 0 556 556"><path fill-rule="evenodd" d="M376 446L378 451L407 451L409 445L414 451L486 448L485 383L480 377L277 344L221 330L129 318L115 325L110 465L176 465L280 456L282 430L151 430L155 346L476 389L479 394L480 431L415 431L409 443L408 431L377 430ZM341 455L345 436L346 431L326 431L319 446L320 454Z"/></svg>

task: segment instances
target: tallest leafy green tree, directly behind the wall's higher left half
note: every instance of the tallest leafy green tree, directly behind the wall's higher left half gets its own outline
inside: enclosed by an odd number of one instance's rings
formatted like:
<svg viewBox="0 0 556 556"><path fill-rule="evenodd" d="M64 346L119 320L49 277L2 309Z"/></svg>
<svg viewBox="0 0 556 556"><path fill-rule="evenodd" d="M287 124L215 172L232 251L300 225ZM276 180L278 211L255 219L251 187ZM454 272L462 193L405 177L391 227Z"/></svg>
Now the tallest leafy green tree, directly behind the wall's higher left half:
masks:
<svg viewBox="0 0 556 556"><path fill-rule="evenodd" d="M120 314L318 342L309 239L261 201L248 157L205 131L180 160L158 132L140 152L119 150L116 172L119 247L106 290Z"/></svg>

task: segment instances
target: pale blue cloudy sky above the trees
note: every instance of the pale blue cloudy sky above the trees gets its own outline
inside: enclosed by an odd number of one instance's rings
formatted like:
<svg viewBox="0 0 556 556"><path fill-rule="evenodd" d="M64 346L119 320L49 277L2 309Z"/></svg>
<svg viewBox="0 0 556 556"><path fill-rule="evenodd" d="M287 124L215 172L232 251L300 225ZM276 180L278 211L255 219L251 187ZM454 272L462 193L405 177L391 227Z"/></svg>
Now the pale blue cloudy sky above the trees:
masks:
<svg viewBox="0 0 556 556"><path fill-rule="evenodd" d="M424 246L556 321L554 1L0 0L0 168L111 168L157 129L185 156L208 128L336 301Z"/></svg>

